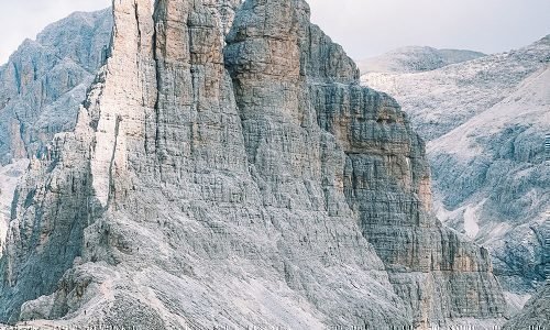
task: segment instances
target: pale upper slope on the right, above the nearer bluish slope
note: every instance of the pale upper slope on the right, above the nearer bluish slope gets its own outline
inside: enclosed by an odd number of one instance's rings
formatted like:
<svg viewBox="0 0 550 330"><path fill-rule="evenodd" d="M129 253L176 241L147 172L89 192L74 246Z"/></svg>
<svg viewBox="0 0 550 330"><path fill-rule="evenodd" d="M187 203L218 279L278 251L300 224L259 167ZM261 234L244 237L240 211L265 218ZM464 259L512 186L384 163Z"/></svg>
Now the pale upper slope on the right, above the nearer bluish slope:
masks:
<svg viewBox="0 0 550 330"><path fill-rule="evenodd" d="M395 96L430 141L502 101L548 61L550 36L518 51L430 72L365 74L362 81Z"/></svg>

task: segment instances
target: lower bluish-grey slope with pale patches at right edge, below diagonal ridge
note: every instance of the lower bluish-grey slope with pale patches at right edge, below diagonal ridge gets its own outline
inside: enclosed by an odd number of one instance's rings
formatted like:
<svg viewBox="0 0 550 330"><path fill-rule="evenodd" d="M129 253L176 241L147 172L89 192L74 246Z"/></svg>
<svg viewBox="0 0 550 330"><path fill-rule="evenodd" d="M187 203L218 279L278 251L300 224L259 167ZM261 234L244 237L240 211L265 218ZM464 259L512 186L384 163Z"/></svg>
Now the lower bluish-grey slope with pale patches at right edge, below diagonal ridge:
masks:
<svg viewBox="0 0 550 330"><path fill-rule="evenodd" d="M510 96L430 142L439 216L493 251L510 290L542 282L550 208L544 133L550 132L550 66Z"/></svg>

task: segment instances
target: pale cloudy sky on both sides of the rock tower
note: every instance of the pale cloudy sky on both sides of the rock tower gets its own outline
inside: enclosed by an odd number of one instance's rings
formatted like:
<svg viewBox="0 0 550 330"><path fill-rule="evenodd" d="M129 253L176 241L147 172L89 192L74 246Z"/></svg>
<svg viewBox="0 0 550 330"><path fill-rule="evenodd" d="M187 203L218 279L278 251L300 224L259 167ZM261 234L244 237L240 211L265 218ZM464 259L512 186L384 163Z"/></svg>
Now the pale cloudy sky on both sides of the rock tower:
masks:
<svg viewBox="0 0 550 330"><path fill-rule="evenodd" d="M309 0L312 21L361 59L400 46L498 53L550 34L550 0ZM0 0L0 64L25 38L111 0Z"/></svg>

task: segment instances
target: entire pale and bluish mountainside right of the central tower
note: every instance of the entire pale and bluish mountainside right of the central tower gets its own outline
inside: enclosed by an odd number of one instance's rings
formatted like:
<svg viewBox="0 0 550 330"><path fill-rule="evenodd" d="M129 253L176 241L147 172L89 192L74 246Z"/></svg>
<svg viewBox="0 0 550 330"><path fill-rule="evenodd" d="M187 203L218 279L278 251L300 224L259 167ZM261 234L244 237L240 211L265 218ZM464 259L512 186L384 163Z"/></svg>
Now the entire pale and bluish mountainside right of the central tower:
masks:
<svg viewBox="0 0 550 330"><path fill-rule="evenodd" d="M439 218L491 251L515 310L544 279L549 63L546 36L430 72L362 77L395 96L429 140Z"/></svg>

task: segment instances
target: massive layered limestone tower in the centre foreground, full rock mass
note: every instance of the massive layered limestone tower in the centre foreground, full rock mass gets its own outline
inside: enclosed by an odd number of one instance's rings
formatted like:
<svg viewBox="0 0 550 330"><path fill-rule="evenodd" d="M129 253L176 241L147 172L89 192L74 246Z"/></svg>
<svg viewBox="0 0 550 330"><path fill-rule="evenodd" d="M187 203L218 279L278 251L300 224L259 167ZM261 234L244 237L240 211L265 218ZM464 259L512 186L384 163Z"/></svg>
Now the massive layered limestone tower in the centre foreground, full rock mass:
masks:
<svg viewBox="0 0 550 330"><path fill-rule="evenodd" d="M498 318L422 142L302 0L114 1L74 132L31 165L0 319L138 329ZM227 45L226 45L227 43ZM54 268L52 270L52 266ZM50 320L50 321L48 321Z"/></svg>

